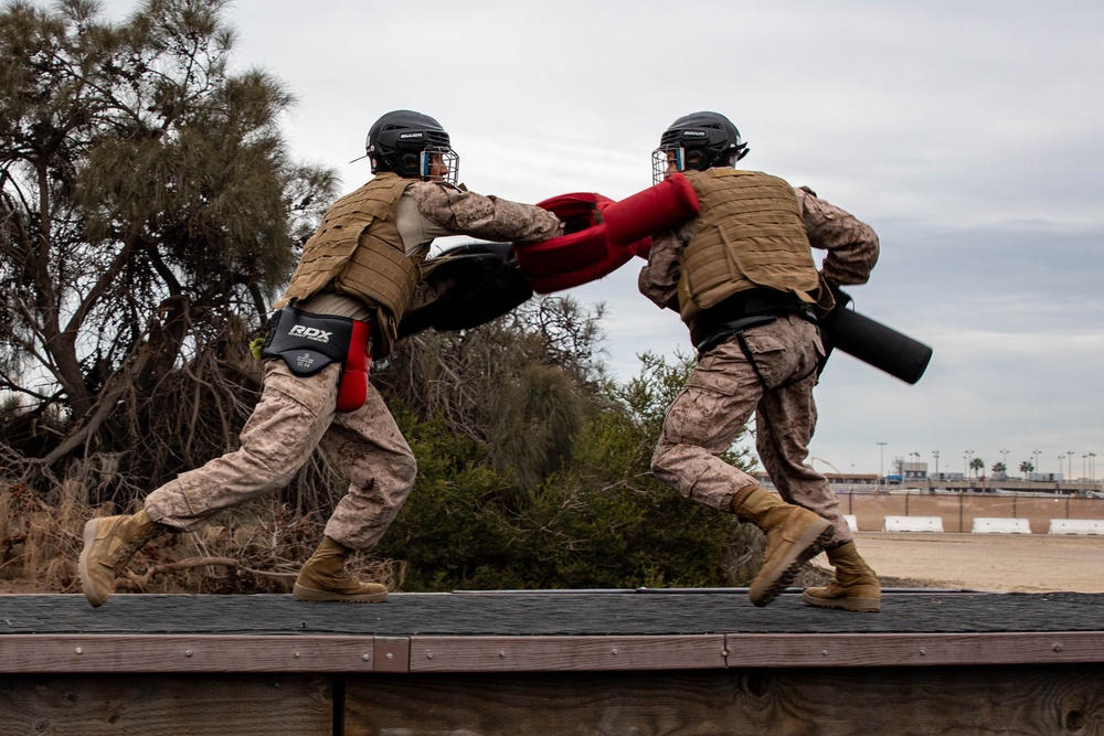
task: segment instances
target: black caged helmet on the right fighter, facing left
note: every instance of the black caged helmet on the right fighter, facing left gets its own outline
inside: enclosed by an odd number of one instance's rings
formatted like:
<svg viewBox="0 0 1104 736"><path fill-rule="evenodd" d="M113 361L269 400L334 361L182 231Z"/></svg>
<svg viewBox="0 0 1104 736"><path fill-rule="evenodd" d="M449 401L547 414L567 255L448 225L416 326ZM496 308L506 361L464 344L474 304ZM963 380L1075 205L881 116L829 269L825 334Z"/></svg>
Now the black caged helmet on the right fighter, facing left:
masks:
<svg viewBox="0 0 1104 736"><path fill-rule="evenodd" d="M747 156L740 131L720 113L691 113L672 122L652 151L652 179L658 183L673 163L677 171L731 167Z"/></svg>

